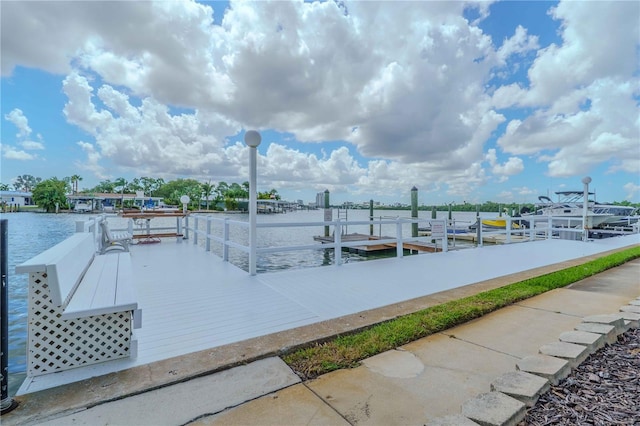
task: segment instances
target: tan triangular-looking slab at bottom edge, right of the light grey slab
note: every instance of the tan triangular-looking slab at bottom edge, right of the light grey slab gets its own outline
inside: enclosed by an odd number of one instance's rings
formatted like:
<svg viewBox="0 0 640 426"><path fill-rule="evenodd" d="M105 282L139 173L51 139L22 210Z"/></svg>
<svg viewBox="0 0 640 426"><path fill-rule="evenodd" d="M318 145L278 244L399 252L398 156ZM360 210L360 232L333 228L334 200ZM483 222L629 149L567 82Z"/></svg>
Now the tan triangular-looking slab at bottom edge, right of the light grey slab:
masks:
<svg viewBox="0 0 640 426"><path fill-rule="evenodd" d="M249 401L222 413L200 418L190 426L282 426L349 425L342 416L325 404L305 385L289 388Z"/></svg>

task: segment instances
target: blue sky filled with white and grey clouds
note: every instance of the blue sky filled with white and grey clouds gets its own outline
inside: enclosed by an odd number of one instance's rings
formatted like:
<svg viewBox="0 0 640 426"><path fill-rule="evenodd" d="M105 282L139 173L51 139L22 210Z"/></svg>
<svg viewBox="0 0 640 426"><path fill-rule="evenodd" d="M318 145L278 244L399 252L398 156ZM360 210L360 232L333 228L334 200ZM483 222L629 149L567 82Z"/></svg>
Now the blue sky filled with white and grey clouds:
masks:
<svg viewBox="0 0 640 426"><path fill-rule="evenodd" d="M637 1L1 1L0 182L640 202ZM555 199L555 196L553 196Z"/></svg>

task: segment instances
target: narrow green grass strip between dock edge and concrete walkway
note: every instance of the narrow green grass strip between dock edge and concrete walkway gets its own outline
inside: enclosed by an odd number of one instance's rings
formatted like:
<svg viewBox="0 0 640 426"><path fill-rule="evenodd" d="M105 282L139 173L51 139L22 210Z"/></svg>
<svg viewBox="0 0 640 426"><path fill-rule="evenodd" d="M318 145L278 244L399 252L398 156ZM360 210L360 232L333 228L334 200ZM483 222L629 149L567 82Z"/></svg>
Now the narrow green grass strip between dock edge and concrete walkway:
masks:
<svg viewBox="0 0 640 426"><path fill-rule="evenodd" d="M281 354L280 357L303 380L313 379L339 369L353 368L358 366L360 361L373 355L396 349L521 300L566 287L637 258L640 258L640 247L622 250L582 265L354 330L324 342L316 342Z"/></svg>

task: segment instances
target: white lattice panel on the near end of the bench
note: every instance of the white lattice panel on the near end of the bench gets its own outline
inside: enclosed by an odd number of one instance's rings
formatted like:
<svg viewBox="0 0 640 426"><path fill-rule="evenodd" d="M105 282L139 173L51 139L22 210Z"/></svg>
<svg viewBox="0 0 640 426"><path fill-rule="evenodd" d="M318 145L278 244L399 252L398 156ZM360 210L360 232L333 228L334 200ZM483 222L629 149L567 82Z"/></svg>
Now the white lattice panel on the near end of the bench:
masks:
<svg viewBox="0 0 640 426"><path fill-rule="evenodd" d="M61 319L62 308L49 296L47 275L29 277L29 352L31 377L129 356L131 312Z"/></svg>

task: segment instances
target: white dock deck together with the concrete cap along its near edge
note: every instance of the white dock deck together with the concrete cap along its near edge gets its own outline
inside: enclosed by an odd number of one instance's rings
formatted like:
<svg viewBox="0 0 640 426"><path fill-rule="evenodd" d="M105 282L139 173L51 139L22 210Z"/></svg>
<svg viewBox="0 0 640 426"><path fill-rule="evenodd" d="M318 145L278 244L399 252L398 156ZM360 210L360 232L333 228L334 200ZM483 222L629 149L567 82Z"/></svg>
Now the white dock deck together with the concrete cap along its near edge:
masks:
<svg viewBox="0 0 640 426"><path fill-rule="evenodd" d="M143 309L137 358L25 382L19 394L27 399L6 421L34 421L55 411L55 405L28 411L30 393L55 395L77 410L258 359L247 345L276 353L366 327L371 309L386 307L393 318L430 306L428 296L441 303L444 292L462 297L639 245L638 234L587 243L550 239L256 276L187 242L134 245ZM337 318L348 319L336 322L343 329L326 326Z"/></svg>

